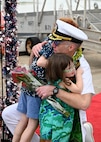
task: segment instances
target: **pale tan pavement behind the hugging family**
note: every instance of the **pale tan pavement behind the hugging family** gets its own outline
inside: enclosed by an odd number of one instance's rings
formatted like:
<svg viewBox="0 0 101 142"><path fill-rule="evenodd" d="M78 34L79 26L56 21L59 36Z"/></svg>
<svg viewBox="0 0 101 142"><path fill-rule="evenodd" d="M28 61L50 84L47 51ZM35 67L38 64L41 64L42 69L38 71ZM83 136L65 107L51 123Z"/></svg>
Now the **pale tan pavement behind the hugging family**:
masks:
<svg viewBox="0 0 101 142"><path fill-rule="evenodd" d="M85 49L84 56L87 59L88 63L90 64L95 93L98 94L99 92L101 92L101 53ZM29 62L29 56L25 55L19 56L18 65L21 66L28 65L28 62ZM0 62L0 70L1 70L1 62ZM1 78L1 72L0 72L0 78ZM0 92L2 94L2 78L0 81ZM3 80L3 94L4 96L6 95L4 80Z"/></svg>

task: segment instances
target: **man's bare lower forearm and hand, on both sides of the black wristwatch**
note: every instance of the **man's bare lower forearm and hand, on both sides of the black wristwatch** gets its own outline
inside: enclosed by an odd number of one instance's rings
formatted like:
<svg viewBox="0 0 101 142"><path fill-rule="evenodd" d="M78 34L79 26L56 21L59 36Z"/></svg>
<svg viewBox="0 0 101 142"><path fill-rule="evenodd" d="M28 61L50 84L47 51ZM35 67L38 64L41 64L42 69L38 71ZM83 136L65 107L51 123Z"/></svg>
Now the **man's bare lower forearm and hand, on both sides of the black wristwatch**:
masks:
<svg viewBox="0 0 101 142"><path fill-rule="evenodd" d="M44 99L53 95L53 89L54 86L46 85L37 88L36 91L39 97ZM69 93L59 89L59 93L56 95L56 97L74 108L86 110L90 105L92 94L88 93L81 95L76 93Z"/></svg>

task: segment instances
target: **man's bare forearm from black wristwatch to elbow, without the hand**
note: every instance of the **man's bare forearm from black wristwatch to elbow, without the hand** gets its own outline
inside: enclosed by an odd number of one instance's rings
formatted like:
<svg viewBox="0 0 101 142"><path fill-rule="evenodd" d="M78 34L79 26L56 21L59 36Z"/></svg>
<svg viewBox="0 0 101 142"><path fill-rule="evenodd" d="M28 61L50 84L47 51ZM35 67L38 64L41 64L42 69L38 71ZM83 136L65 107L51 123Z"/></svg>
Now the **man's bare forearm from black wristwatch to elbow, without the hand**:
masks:
<svg viewBox="0 0 101 142"><path fill-rule="evenodd" d="M76 94L59 90L57 98L61 99L66 104L81 110L86 110L91 102L92 94Z"/></svg>

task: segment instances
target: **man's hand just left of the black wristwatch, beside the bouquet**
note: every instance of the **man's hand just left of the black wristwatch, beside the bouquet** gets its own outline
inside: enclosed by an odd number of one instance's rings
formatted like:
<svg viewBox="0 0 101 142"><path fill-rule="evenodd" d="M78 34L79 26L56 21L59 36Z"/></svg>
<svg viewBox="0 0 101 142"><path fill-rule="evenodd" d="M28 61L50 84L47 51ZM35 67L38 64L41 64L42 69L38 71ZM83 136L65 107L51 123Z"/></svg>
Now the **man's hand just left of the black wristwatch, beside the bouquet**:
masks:
<svg viewBox="0 0 101 142"><path fill-rule="evenodd" d="M54 89L54 86L45 85L45 86L38 87L36 89L36 92L41 99L45 99L45 98L53 95L53 89Z"/></svg>

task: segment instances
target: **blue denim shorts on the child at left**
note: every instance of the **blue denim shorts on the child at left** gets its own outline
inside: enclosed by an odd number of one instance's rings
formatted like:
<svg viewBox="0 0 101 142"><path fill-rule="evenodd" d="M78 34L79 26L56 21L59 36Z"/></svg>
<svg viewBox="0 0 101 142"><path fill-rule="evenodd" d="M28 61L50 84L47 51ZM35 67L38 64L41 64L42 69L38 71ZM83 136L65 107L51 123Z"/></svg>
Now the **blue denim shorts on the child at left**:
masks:
<svg viewBox="0 0 101 142"><path fill-rule="evenodd" d="M26 114L28 118L38 119L41 99L38 96L29 96L21 91L17 110Z"/></svg>

